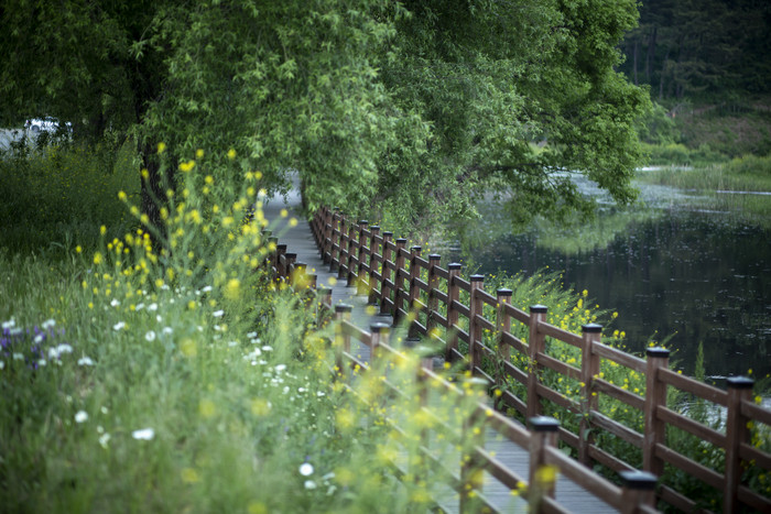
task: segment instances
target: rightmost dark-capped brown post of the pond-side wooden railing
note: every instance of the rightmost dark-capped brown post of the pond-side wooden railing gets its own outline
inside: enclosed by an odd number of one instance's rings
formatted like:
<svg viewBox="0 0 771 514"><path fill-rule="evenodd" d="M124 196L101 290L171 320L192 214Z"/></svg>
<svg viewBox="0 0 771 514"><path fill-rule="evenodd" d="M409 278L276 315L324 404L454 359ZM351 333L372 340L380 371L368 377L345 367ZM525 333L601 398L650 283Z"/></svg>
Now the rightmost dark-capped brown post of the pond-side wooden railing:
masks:
<svg viewBox="0 0 771 514"><path fill-rule="evenodd" d="M723 512L739 512L739 484L741 483L742 442L750 442L749 419L741 414L741 403L752 398L754 381L746 376L728 379L728 412L726 415L726 484L723 494Z"/></svg>

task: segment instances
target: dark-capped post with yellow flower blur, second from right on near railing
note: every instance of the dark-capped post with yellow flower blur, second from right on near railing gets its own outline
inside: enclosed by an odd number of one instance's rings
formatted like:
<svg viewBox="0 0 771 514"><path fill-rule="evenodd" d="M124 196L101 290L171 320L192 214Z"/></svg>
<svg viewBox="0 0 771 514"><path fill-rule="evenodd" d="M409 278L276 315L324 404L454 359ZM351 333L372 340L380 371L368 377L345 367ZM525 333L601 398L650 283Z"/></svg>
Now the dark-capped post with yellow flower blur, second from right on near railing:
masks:
<svg viewBox="0 0 771 514"><path fill-rule="evenodd" d="M553 417L534 416L530 422L530 473L528 501L530 512L542 512L542 499L554 497L556 470L546 464L546 448L557 444L560 422Z"/></svg>

